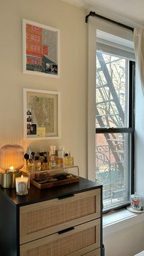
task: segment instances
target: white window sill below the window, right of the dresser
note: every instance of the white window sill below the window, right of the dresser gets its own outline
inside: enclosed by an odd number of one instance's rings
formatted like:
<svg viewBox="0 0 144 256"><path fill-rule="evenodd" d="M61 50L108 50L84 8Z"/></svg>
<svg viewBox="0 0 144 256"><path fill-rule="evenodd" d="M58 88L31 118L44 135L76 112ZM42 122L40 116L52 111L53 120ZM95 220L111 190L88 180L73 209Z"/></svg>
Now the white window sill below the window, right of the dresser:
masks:
<svg viewBox="0 0 144 256"><path fill-rule="evenodd" d="M126 229L144 221L144 213L135 214L126 209L108 213L103 216L103 236Z"/></svg>

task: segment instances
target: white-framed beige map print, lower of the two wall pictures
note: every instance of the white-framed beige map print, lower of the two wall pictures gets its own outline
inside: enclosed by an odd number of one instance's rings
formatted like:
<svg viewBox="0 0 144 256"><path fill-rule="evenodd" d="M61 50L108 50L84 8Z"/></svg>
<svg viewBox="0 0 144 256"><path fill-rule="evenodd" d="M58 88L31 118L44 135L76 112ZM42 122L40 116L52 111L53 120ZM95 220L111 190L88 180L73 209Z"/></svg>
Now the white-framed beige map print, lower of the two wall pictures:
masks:
<svg viewBox="0 0 144 256"><path fill-rule="evenodd" d="M24 88L23 113L24 140L60 138L59 92Z"/></svg>

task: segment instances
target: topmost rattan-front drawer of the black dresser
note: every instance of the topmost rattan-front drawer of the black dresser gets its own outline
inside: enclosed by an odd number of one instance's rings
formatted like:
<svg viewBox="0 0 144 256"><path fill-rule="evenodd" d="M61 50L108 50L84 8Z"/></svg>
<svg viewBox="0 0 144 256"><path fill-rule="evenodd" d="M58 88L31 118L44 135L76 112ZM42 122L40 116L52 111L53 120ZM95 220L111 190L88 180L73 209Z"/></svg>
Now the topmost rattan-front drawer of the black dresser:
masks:
<svg viewBox="0 0 144 256"><path fill-rule="evenodd" d="M20 207L20 244L99 218L101 189Z"/></svg>

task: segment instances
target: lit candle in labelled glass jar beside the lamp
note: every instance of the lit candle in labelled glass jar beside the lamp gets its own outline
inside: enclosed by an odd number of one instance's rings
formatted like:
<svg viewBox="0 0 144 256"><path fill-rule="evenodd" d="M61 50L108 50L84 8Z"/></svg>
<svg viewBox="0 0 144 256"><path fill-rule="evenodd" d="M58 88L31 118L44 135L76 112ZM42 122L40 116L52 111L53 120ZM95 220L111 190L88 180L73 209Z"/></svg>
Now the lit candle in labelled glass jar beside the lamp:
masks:
<svg viewBox="0 0 144 256"><path fill-rule="evenodd" d="M28 193L28 177L17 177L15 178L16 194L19 196L26 195Z"/></svg>

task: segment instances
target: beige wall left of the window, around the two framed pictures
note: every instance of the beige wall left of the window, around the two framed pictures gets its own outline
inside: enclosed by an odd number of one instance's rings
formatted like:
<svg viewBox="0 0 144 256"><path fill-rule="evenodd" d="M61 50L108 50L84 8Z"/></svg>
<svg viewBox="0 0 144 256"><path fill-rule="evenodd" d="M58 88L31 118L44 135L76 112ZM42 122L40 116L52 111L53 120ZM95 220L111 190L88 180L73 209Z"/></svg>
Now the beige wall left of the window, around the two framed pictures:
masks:
<svg viewBox="0 0 144 256"><path fill-rule="evenodd" d="M21 20L25 18L60 29L60 78L22 73ZM1 93L0 146L30 145L37 151L65 145L80 174L87 176L87 59L84 10L60 0L7 0L0 4ZM23 88L61 94L62 136L59 140L23 141Z"/></svg>

